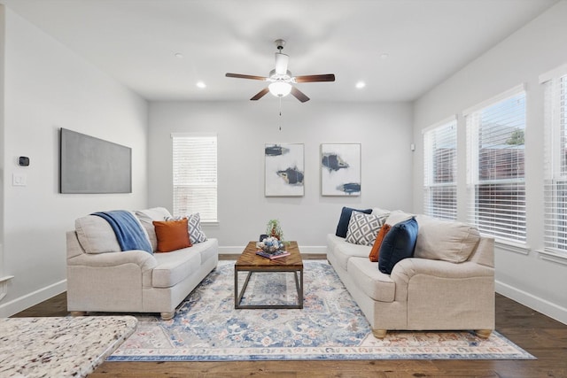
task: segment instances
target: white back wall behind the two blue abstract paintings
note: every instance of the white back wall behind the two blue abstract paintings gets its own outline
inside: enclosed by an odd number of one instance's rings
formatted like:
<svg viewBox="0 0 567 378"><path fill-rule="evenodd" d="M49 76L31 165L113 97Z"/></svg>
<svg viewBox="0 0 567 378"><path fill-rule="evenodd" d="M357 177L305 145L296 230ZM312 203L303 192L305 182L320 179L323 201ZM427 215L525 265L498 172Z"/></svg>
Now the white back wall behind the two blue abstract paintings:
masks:
<svg viewBox="0 0 567 378"><path fill-rule="evenodd" d="M315 84L316 85L316 84ZM259 102L151 103L149 204L172 210L172 132L215 132L219 145L218 227L221 252L242 251L266 228L283 223L284 236L302 251L323 251L343 205L411 208L412 111L410 104L317 103L273 96ZM282 130L279 130L279 126ZM265 143L305 144L305 196L264 197ZM361 196L320 195L320 144L361 143Z"/></svg>

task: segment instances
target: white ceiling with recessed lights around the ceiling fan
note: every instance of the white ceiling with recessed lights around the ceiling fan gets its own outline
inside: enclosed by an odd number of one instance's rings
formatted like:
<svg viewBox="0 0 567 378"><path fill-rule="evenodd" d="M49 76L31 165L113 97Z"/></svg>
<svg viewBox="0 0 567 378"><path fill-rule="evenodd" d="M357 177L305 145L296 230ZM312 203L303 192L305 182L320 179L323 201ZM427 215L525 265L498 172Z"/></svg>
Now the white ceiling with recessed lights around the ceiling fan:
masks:
<svg viewBox="0 0 567 378"><path fill-rule="evenodd" d="M297 84L313 101L411 101L556 2L0 0L140 96L197 101L263 89L224 74L267 76L278 38L291 73L336 74Z"/></svg>

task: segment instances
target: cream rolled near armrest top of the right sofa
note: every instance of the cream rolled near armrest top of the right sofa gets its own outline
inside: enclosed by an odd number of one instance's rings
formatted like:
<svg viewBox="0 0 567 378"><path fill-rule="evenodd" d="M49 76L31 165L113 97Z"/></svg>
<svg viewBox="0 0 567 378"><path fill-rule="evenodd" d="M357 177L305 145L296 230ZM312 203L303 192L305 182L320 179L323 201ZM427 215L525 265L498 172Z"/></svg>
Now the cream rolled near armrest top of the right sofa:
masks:
<svg viewBox="0 0 567 378"><path fill-rule="evenodd" d="M404 258L393 267L391 277L396 284L400 282L407 286L409 280L417 274L448 279L493 277L494 268L471 261L451 263L427 258Z"/></svg>

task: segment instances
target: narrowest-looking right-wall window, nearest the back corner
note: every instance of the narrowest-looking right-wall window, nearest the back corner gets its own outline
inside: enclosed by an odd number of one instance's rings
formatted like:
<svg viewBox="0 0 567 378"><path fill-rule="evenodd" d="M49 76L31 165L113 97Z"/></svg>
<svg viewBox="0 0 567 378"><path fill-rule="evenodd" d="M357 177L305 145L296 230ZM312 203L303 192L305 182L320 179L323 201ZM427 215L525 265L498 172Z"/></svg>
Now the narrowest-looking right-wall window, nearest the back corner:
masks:
<svg viewBox="0 0 567 378"><path fill-rule="evenodd" d="M442 122L423 133L423 212L457 218L457 121Z"/></svg>

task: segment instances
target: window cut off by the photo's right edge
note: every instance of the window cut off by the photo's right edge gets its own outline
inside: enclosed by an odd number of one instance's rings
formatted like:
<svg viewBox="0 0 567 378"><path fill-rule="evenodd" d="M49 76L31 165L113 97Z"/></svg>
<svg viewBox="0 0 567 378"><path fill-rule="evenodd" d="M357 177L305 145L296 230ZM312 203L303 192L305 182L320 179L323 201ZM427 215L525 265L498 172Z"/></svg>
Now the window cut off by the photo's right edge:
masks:
<svg viewBox="0 0 567 378"><path fill-rule="evenodd" d="M540 78L545 83L545 248L566 252L567 66L550 74Z"/></svg>

